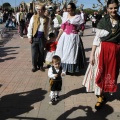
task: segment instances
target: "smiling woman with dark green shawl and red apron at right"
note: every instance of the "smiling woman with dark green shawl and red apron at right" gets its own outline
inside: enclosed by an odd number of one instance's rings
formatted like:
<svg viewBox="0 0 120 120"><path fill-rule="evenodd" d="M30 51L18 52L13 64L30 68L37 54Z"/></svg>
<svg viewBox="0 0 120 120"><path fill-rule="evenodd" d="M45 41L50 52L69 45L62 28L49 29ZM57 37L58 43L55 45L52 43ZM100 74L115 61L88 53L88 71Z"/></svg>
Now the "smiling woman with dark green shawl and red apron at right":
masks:
<svg viewBox="0 0 120 120"><path fill-rule="evenodd" d="M108 15L97 25L93 41L90 64L83 85L87 92L94 91L98 96L95 108L98 110L104 101L104 92L117 91L117 78L120 69L120 16L117 14L118 0L108 0Z"/></svg>

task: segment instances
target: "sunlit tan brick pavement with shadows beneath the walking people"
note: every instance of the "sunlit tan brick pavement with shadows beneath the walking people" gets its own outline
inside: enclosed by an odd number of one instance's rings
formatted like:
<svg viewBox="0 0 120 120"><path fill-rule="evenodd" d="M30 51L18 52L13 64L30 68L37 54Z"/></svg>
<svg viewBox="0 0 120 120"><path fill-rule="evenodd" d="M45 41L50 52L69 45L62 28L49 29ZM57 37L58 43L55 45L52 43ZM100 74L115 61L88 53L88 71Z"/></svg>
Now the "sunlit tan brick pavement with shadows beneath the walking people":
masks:
<svg viewBox="0 0 120 120"><path fill-rule="evenodd" d="M87 61L94 34L91 28L82 37ZM96 111L96 96L82 87L80 75L63 79L61 99L49 105L47 70L31 72L31 50L27 38L17 33L0 47L0 120L120 120L120 94L106 94L104 109ZM120 77L118 80L120 90Z"/></svg>

